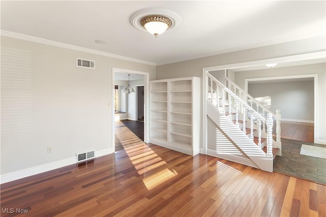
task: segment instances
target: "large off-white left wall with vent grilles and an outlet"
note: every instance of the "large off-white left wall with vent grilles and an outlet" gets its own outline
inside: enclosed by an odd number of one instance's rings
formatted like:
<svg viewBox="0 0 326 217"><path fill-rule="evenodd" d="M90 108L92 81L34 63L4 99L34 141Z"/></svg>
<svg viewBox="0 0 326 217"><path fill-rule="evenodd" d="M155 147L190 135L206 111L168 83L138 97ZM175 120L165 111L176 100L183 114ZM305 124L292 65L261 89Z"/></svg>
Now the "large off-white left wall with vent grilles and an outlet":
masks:
<svg viewBox="0 0 326 217"><path fill-rule="evenodd" d="M76 57L96 69L76 67ZM113 67L156 77L155 66L1 37L2 182L113 151Z"/></svg>

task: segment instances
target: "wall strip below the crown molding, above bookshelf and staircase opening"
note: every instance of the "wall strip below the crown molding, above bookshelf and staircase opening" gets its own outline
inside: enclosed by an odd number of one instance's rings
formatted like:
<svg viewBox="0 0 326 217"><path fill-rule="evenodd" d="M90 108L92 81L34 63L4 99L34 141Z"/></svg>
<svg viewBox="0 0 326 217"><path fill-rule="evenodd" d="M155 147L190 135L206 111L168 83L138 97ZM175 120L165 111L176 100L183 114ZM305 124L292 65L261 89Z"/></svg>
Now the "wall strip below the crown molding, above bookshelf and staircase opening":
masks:
<svg viewBox="0 0 326 217"><path fill-rule="evenodd" d="M228 64L244 63L247 61L254 61L260 59L269 59L282 56L323 51L325 50L325 45L325 37L316 37L157 66L156 79L180 78L188 76L197 76L202 78L203 68L205 67L222 66ZM292 74L295 73L296 72L292 72ZM255 76L260 75L253 75L253 77ZM324 94L324 87L326 85L325 75L323 74L319 77L320 83L318 84L318 86L323 86L319 90L321 93ZM237 74L235 75L235 80L237 80ZM321 105L319 105L318 107L319 113L325 111L325 100L321 101L320 103ZM201 104L203 104L203 99L201 99ZM320 115L321 120L318 122L318 125L321 125L322 122L323 126L319 126L320 128L318 130L318 139L326 142L326 130L324 125L325 115ZM201 126L203 126L203 121L201 122ZM201 135L201 137L203 137L203 135Z"/></svg>

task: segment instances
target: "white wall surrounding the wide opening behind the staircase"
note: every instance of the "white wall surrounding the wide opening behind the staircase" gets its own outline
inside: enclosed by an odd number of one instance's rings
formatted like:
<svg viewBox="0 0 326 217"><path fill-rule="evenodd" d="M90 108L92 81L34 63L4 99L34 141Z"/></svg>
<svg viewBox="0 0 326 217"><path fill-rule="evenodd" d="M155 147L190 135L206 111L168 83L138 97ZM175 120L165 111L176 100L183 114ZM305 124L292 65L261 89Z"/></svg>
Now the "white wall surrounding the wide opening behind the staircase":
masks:
<svg viewBox="0 0 326 217"><path fill-rule="evenodd" d="M326 144L326 64L311 64L292 67L280 67L254 71L243 71L235 73L235 83L244 89L244 79L270 78L297 75L318 75L317 83L317 143ZM282 112L282 111L281 111Z"/></svg>

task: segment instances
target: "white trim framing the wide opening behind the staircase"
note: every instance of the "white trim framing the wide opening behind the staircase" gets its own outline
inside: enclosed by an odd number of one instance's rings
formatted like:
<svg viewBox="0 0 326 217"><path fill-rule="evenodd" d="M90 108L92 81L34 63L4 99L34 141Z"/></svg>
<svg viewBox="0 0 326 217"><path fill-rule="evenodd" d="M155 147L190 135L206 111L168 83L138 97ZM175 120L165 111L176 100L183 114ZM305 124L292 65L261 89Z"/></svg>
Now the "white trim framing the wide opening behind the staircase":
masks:
<svg viewBox="0 0 326 217"><path fill-rule="evenodd" d="M326 51L323 52L326 55ZM308 75L290 75L290 76L276 76L276 77L264 77L264 78L246 78L244 79L244 91L248 93L249 81L264 81L264 80L283 80L283 79L296 79L296 78L313 78L314 79L314 143L318 143L318 125L317 125L317 109L318 109L318 74ZM282 111L281 111L282 112ZM303 122L303 121L298 121Z"/></svg>

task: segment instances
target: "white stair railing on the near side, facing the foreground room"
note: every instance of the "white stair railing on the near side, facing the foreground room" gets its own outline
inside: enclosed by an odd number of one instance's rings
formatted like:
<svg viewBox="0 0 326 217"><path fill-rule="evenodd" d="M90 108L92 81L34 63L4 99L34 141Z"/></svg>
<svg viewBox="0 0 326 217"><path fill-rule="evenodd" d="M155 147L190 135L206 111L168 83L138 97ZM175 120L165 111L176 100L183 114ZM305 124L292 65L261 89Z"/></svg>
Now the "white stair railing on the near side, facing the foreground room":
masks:
<svg viewBox="0 0 326 217"><path fill-rule="evenodd" d="M257 120L258 122L262 123L263 125L266 124L266 126L267 126L267 153L266 153L266 156L273 156L273 153L272 153L273 118L271 118L273 116L273 114L269 113L267 116L268 118L262 116L255 109L253 109L250 105L248 105L246 102L244 102L242 99L240 99L236 94L234 94L234 92L232 92L232 90L230 90L229 88L224 86L224 84L222 84L219 80L214 78L211 74L207 73L207 75L208 75L208 84L207 85L209 87L209 92L206 95L206 99L225 116L227 116L227 115L231 116L231 106L232 106L231 102L234 103L235 108L240 106L239 110L242 111L241 113L243 116L242 133L244 135L246 135L246 125L245 125L246 115L247 115L247 113L249 113L250 120L251 120L251 123L250 123L250 139L251 139L251 141L254 141L254 134L253 134L254 120ZM220 96L217 94L218 92L222 92L222 96L221 96L222 99L220 99ZM226 94L227 94L228 100L226 100ZM219 105L221 105L219 103L219 100L222 100L222 107L219 107ZM226 114L226 109L225 109L226 102L228 102L228 104L229 104L229 109L228 109L227 114ZM237 114L238 109L236 109L235 112ZM239 125L238 118L235 119L235 125L236 126ZM255 129L255 130L258 130L258 135L261 135L261 131L262 131L261 127L257 127L257 129ZM258 144L260 144L260 148L261 148L261 136L258 137Z"/></svg>

